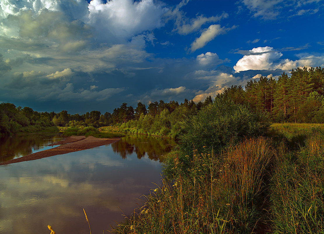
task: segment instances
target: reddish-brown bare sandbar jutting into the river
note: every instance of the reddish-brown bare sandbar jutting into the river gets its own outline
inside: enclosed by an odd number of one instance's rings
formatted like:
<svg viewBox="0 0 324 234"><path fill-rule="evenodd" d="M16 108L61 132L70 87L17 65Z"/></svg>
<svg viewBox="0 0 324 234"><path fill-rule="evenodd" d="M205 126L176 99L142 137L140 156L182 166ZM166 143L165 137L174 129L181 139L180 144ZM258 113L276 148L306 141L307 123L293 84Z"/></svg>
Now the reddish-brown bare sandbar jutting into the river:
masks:
<svg viewBox="0 0 324 234"><path fill-rule="evenodd" d="M111 143L114 143L116 141L119 141L121 138L114 137L114 138L96 138L93 136L69 136L65 138L63 141L59 141L56 143L53 143L49 146L54 145L60 145L57 147L54 147L52 149L43 150L40 152L36 152L33 154L29 154L26 156L23 156L21 158L15 158L6 162L1 162L0 165L7 165L11 163L17 163L17 162L23 162L23 161L30 161L30 160L36 160L40 158L47 158L55 155L60 154L67 154L70 152L85 150L94 148L97 146L103 146L108 145Z"/></svg>

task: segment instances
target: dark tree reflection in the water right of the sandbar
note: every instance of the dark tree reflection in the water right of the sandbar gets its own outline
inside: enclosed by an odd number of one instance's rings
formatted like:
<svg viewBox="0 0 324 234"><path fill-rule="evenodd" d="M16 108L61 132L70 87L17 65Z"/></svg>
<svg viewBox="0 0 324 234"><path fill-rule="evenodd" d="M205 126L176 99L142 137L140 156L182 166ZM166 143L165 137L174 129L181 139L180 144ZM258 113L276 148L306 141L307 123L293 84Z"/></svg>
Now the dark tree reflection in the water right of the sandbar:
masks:
<svg viewBox="0 0 324 234"><path fill-rule="evenodd" d="M162 162L161 156L170 152L175 145L176 142L169 138L128 135L111 144L111 147L115 153L120 154L121 158L124 159L135 152L139 159L147 154L149 159Z"/></svg>

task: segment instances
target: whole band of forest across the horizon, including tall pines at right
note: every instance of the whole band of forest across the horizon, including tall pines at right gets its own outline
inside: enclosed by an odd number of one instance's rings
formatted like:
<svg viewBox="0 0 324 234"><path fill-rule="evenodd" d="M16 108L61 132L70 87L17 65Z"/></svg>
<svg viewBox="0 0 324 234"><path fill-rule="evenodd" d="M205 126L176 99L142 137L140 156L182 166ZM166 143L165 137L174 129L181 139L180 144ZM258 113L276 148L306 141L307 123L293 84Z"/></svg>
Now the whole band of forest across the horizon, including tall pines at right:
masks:
<svg viewBox="0 0 324 234"><path fill-rule="evenodd" d="M225 88L215 99L233 101L254 112L267 112L273 122L324 123L324 68L292 69L291 76L283 73L278 80L261 76L258 80L250 80L244 88L236 85ZM33 131L51 124L95 128L124 124L146 133L174 135L179 131L181 122L197 115L214 101L211 96L198 103L192 99L184 99L180 104L175 100L159 100L150 102L147 108L138 102L136 109L124 102L112 113L90 111L82 115L71 115L66 110L39 113L30 107L1 103L0 131L1 134L17 133L27 128Z"/></svg>

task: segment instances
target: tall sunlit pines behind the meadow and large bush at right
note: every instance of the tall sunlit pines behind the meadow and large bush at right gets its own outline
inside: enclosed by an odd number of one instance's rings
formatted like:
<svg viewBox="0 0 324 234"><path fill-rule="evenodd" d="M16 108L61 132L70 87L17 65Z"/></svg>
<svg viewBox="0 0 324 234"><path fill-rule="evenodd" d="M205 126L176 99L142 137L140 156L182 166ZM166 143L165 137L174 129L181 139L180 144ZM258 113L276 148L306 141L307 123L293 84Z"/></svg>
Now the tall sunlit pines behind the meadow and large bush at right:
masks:
<svg viewBox="0 0 324 234"><path fill-rule="evenodd" d="M324 68L297 68L278 80L261 76L242 87L232 86L217 97L267 111L273 122L323 123Z"/></svg>

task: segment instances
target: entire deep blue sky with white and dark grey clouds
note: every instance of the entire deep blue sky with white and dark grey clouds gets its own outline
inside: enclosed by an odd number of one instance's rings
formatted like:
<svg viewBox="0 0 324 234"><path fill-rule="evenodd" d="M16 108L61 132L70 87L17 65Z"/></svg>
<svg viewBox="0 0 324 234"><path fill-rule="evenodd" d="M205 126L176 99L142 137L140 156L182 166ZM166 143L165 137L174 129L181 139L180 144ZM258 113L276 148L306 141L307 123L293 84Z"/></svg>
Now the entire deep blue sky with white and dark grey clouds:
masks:
<svg viewBox="0 0 324 234"><path fill-rule="evenodd" d="M1 0L0 101L112 112L324 67L324 1Z"/></svg>

